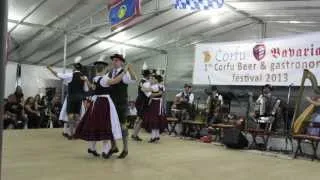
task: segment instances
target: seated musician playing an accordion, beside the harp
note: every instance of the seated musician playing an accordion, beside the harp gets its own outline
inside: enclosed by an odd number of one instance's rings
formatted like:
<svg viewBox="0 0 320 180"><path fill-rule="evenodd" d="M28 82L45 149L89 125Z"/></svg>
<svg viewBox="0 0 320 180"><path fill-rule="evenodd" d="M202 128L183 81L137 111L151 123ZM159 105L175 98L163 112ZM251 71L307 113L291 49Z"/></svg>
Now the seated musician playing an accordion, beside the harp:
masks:
<svg viewBox="0 0 320 180"><path fill-rule="evenodd" d="M271 122L273 129L275 128L276 115L280 110L280 99L272 95L272 87L267 84L262 88L262 94L256 101L254 113L251 113L251 117L258 122L264 129L267 122Z"/></svg>

